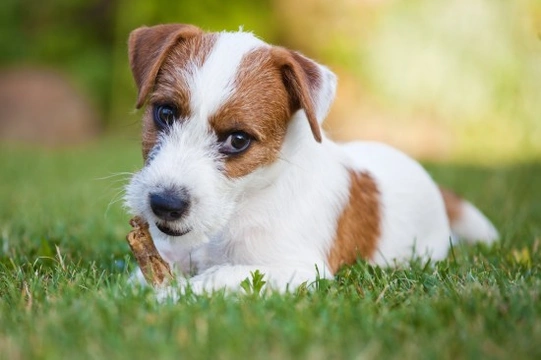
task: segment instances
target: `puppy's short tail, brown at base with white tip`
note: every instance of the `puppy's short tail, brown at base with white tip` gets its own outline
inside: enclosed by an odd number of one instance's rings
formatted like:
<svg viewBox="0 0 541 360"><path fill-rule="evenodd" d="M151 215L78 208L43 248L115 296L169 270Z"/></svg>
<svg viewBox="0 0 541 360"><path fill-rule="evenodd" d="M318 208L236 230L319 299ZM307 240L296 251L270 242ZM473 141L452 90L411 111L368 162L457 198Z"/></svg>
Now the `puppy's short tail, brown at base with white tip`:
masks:
<svg viewBox="0 0 541 360"><path fill-rule="evenodd" d="M469 243L490 244L499 238L498 230L479 209L454 192L440 187L453 235Z"/></svg>

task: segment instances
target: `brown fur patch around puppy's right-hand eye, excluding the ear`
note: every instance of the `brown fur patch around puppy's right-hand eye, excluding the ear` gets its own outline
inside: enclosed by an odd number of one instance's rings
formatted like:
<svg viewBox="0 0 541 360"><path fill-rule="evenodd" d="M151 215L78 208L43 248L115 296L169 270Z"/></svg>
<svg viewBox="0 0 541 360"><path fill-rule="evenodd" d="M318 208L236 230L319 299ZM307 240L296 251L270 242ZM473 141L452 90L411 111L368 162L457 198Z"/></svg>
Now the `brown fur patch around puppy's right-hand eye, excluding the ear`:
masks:
<svg viewBox="0 0 541 360"><path fill-rule="evenodd" d="M291 117L288 92L269 48L254 50L241 61L235 92L210 118L218 138L244 131L254 140L245 152L226 159L229 177L240 177L276 161Z"/></svg>

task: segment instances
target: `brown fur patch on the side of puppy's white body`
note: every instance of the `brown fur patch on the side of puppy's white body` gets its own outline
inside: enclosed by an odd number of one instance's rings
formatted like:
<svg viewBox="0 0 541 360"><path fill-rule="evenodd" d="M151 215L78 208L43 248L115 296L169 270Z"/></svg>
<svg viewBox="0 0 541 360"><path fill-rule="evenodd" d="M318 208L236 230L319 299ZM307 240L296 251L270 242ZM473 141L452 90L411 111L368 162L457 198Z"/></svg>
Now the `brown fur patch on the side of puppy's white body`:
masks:
<svg viewBox="0 0 541 360"><path fill-rule="evenodd" d="M349 202L340 219L334 244L327 256L333 273L358 258L370 259L381 235L379 191L372 177L365 172L349 171Z"/></svg>

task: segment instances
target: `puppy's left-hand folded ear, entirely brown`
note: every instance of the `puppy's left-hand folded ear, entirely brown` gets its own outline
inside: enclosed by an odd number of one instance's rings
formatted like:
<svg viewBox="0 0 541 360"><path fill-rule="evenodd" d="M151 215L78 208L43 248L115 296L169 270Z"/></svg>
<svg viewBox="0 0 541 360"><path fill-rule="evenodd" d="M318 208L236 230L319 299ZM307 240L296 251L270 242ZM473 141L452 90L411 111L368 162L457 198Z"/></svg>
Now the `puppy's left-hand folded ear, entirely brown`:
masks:
<svg viewBox="0 0 541 360"><path fill-rule="evenodd" d="M143 106L154 87L158 71L169 51L179 42L201 33L198 27L184 24L143 26L130 33L128 52L138 89L137 109Z"/></svg>

